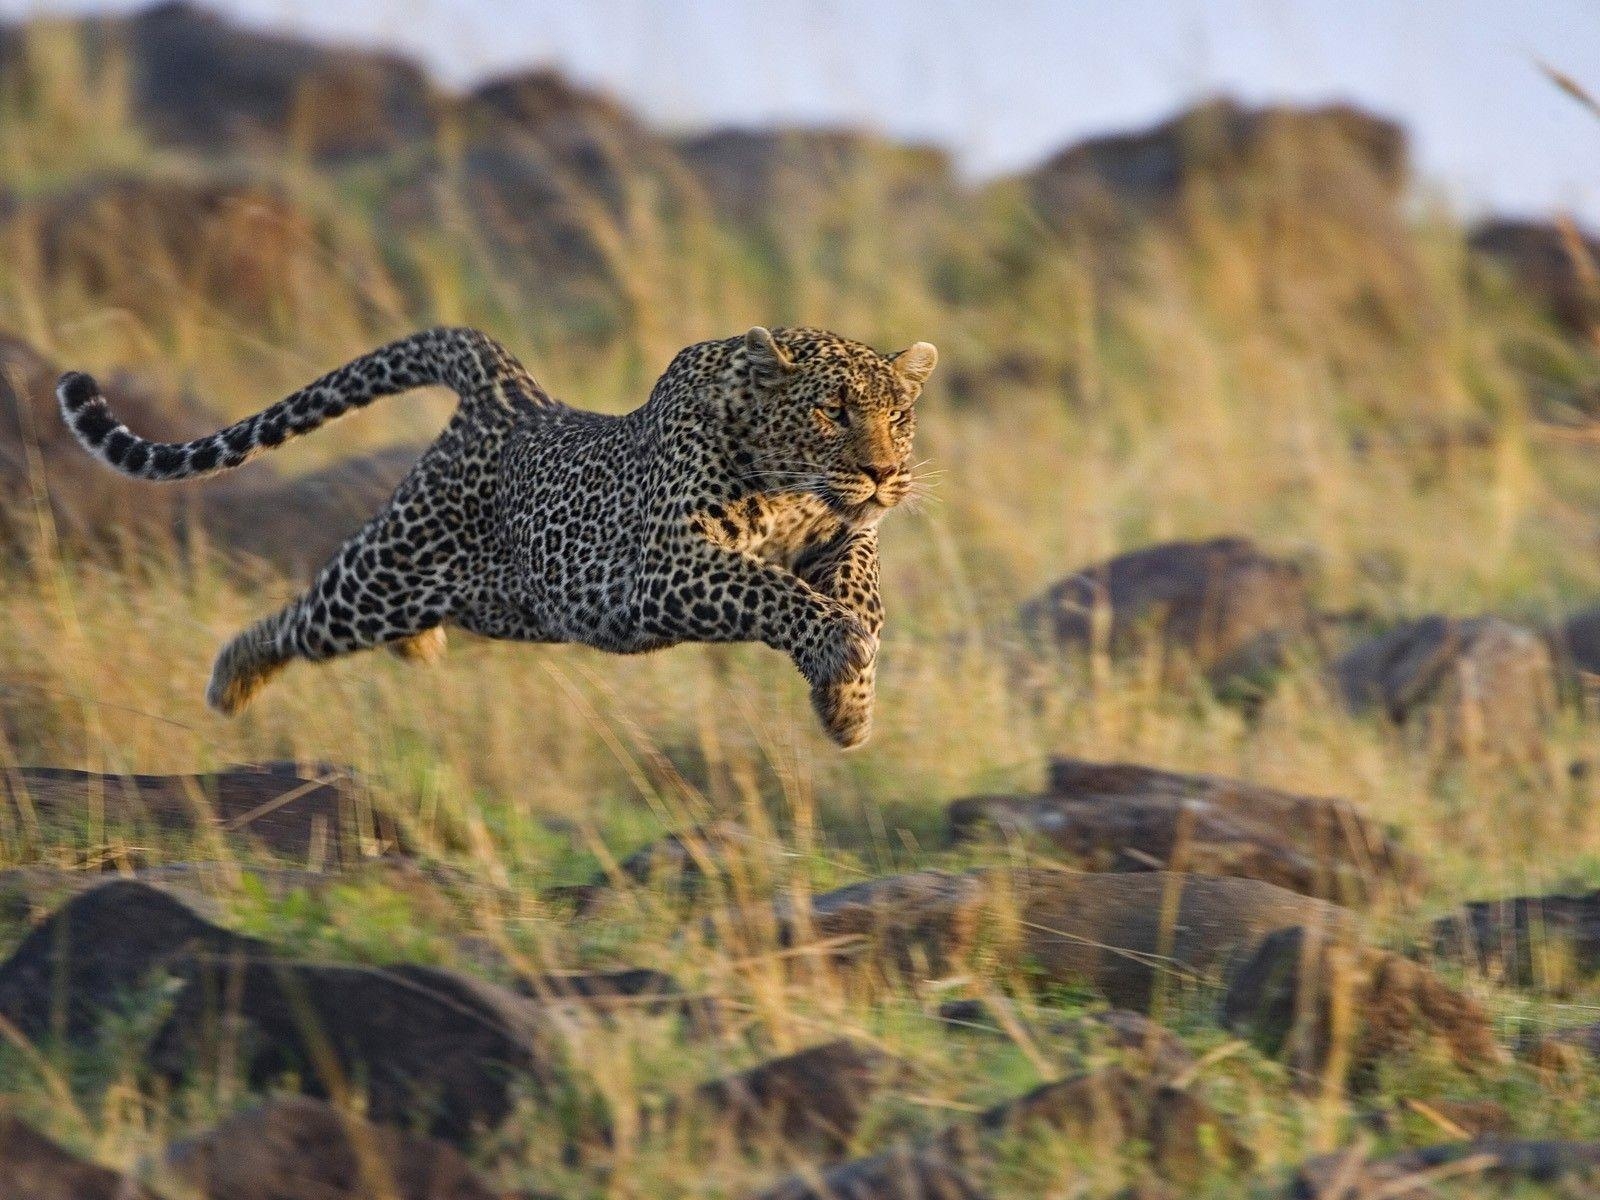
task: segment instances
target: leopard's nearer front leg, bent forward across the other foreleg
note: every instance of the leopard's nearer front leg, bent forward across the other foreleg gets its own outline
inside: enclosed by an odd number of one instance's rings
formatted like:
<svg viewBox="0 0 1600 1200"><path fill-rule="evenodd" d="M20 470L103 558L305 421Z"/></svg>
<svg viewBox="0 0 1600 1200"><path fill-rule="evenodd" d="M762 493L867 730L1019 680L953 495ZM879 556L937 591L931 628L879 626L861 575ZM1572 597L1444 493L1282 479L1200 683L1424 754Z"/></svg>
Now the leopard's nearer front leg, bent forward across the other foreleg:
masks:
<svg viewBox="0 0 1600 1200"><path fill-rule="evenodd" d="M688 533L661 568L642 574L632 619L646 637L667 642L763 642L789 654L811 683L813 698L869 670L877 656L877 626L850 605L824 595L792 571L742 550L730 550ZM827 733L842 746L861 741L858 730Z"/></svg>

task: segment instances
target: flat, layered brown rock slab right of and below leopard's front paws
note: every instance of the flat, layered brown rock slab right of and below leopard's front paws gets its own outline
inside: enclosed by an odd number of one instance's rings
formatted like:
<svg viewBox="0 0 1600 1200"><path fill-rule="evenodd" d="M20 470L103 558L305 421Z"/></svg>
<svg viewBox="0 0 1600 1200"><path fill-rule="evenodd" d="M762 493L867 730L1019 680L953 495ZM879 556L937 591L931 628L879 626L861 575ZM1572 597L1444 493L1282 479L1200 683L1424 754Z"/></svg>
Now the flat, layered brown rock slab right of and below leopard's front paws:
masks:
<svg viewBox="0 0 1600 1200"><path fill-rule="evenodd" d="M1421 878L1418 859L1346 800L1131 763L1054 758L1043 795L970 797L947 816L955 840L1037 835L1088 870L1179 866L1346 904Z"/></svg>

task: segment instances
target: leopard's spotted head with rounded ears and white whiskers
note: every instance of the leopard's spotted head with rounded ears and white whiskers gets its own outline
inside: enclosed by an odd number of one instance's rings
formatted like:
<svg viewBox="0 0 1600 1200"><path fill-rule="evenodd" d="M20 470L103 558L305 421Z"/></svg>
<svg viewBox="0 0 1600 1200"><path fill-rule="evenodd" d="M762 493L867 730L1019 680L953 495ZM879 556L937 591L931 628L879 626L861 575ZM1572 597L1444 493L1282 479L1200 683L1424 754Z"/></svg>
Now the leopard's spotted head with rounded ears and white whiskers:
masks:
<svg viewBox="0 0 1600 1200"><path fill-rule="evenodd" d="M906 499L915 403L939 362L931 342L878 354L824 330L757 325L738 350L750 418L741 467L762 490L811 493L859 522Z"/></svg>

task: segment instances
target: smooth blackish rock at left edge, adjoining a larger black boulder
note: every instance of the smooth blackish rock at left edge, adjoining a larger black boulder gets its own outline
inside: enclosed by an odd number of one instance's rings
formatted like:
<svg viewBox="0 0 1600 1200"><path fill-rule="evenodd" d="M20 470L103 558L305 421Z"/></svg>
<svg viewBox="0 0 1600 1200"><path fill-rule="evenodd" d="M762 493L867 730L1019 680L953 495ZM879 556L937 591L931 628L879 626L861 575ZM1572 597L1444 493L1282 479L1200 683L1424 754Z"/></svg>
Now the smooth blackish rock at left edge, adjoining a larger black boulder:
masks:
<svg viewBox="0 0 1600 1200"><path fill-rule="evenodd" d="M0 1016L34 1042L83 1042L160 973L197 954L262 950L142 883L114 882L67 901L0 965Z"/></svg>

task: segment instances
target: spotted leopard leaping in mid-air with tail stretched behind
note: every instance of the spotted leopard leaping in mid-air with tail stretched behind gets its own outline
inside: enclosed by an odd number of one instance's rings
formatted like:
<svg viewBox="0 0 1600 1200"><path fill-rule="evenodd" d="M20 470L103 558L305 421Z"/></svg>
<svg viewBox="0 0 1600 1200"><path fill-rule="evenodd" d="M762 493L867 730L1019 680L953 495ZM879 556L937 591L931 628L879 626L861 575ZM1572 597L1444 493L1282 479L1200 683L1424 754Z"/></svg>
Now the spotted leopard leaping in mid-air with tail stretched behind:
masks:
<svg viewBox="0 0 1600 1200"><path fill-rule="evenodd" d="M840 747L872 728L882 518L917 491L931 342L883 354L754 326L680 350L645 403L554 398L499 342L432 328L190 442L150 442L91 374L56 397L77 442L141 480L210 477L365 408L443 386L443 430L382 509L277 613L216 656L208 704L240 714L290 662L445 651L445 630L618 654L750 642L787 654Z"/></svg>

